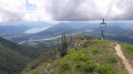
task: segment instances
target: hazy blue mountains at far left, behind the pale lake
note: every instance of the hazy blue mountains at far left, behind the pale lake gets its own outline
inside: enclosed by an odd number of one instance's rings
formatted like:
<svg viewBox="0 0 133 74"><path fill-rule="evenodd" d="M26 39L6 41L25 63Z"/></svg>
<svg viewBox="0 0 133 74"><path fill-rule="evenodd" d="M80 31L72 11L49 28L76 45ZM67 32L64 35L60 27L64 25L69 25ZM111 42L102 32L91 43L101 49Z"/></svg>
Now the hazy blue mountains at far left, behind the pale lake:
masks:
<svg viewBox="0 0 133 74"><path fill-rule="evenodd" d="M7 39L19 38L19 36L30 34L29 30L32 30L35 28L52 27L52 25L54 25L54 23L49 23L49 22L4 22L4 23L0 23L0 36L4 36ZM28 33L27 33L27 31L28 31Z"/></svg>

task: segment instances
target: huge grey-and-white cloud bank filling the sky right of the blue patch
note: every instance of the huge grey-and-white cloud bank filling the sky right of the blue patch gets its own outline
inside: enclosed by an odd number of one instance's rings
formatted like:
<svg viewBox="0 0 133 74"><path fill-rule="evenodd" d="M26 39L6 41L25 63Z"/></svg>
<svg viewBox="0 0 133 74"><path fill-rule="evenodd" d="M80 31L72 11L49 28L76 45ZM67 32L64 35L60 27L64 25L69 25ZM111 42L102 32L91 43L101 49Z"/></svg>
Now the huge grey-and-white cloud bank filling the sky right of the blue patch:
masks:
<svg viewBox="0 0 133 74"><path fill-rule="evenodd" d="M39 9L48 20L90 21L133 20L133 0L40 0ZM43 7L43 9L42 9ZM39 11L40 11L39 10ZM42 11L40 11L42 12ZM43 15L43 13L41 13Z"/></svg>

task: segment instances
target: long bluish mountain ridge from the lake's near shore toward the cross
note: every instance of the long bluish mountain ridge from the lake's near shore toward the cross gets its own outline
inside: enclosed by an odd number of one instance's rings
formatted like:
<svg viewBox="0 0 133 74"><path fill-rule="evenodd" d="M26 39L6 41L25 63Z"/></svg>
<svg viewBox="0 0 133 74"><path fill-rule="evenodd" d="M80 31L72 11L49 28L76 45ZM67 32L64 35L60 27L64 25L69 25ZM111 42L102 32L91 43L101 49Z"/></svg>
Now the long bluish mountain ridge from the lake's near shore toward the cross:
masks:
<svg viewBox="0 0 133 74"><path fill-rule="evenodd" d="M99 27L99 24L92 23L92 22L66 22L66 23L58 23L44 31L41 31L35 34L30 34L25 36L20 36L20 38L14 38L11 39L12 41L16 42L21 42L21 41L29 41L29 40L35 40L35 39L48 39L48 38L53 38L61 35L62 32L66 29L68 34L73 34L86 30L93 30L94 28Z"/></svg>

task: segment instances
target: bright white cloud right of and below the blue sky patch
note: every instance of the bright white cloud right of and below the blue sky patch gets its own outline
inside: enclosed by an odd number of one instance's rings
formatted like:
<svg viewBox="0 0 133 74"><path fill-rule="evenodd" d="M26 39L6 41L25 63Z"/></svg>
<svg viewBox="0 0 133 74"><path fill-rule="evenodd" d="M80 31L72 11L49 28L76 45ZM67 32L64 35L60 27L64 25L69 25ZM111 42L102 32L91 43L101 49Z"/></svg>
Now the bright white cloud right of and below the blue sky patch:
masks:
<svg viewBox="0 0 133 74"><path fill-rule="evenodd" d="M27 10L25 20L33 21L52 21L51 14L47 11L49 0L28 0L31 4L35 4L34 11Z"/></svg>

